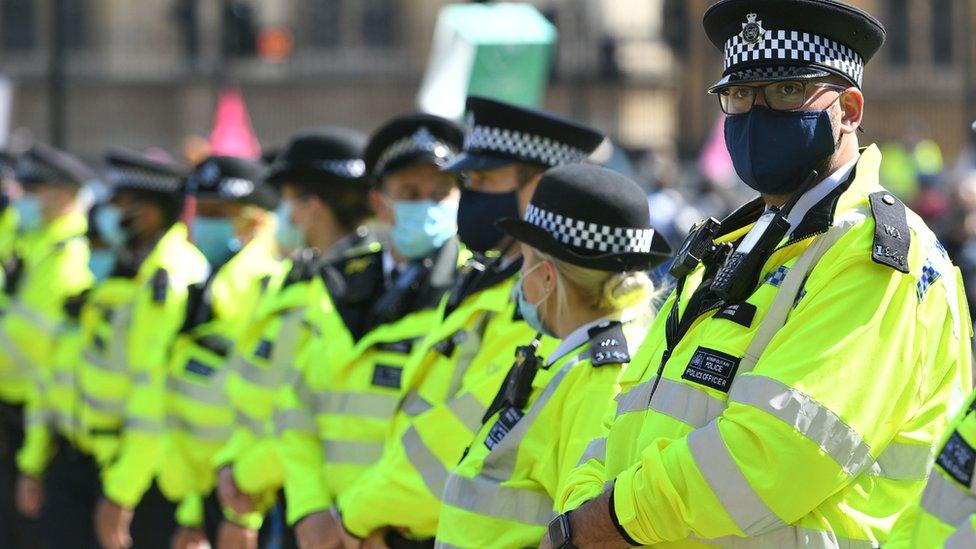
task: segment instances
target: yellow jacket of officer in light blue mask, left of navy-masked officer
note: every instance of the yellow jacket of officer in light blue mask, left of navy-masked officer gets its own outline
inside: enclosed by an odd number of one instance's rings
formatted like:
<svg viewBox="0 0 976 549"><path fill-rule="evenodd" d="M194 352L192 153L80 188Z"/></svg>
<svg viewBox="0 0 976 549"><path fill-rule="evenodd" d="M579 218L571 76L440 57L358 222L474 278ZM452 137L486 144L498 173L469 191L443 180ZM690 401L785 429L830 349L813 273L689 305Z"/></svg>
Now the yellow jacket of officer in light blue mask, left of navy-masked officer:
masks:
<svg viewBox="0 0 976 549"><path fill-rule="evenodd" d="M290 523L332 507L335 494L379 459L403 394L403 368L440 320L441 297L453 286L463 255L451 242L430 260L408 262L397 282L382 282L377 254L369 268L376 274L358 276L378 278L380 291L358 303L345 300L341 288L333 295L353 323L355 345L340 340L337 346L328 333L311 343L300 363L301 377L282 394L276 419ZM349 265L346 260L333 267L350 276ZM357 325L358 318L366 322Z"/></svg>

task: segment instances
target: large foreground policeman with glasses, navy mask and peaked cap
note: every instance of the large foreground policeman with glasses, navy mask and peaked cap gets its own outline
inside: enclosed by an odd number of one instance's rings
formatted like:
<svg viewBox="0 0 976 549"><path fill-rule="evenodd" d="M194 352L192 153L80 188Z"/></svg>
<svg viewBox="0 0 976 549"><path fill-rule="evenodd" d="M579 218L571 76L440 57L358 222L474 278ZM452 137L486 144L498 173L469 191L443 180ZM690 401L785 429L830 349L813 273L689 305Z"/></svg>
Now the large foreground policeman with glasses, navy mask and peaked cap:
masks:
<svg viewBox="0 0 976 549"><path fill-rule="evenodd" d="M972 335L957 269L858 145L884 29L833 0L723 0L704 25L762 196L678 253L543 546L877 546L970 390Z"/></svg>

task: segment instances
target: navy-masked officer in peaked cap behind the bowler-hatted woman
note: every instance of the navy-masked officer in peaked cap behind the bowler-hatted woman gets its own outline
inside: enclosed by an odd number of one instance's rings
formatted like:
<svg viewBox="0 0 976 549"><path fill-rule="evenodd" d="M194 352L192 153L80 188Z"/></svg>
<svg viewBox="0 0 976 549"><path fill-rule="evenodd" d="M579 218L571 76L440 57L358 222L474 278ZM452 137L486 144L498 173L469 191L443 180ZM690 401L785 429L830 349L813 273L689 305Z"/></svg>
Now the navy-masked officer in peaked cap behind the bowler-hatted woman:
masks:
<svg viewBox="0 0 976 549"><path fill-rule="evenodd" d="M534 333L512 299L520 249L494 223L521 217L546 169L584 161L603 140L543 111L481 97L467 108L464 152L444 169L465 172L458 235L477 255L404 368L404 400L383 457L339 494L350 545L369 536L432 544L447 472L480 428L515 347ZM540 352L555 346L544 338Z"/></svg>

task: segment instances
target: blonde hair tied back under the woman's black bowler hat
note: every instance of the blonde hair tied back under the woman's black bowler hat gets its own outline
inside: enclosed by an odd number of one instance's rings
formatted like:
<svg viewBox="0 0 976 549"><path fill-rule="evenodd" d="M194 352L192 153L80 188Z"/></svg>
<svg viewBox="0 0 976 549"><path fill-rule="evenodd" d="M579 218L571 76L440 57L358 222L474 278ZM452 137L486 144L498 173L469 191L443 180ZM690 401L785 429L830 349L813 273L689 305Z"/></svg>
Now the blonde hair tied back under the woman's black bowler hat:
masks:
<svg viewBox="0 0 976 549"><path fill-rule="evenodd" d="M580 267L531 248L538 261L549 261L556 267L556 316L569 308L567 286L583 306L601 315L623 313L649 325L657 314L660 292L644 271L603 271Z"/></svg>

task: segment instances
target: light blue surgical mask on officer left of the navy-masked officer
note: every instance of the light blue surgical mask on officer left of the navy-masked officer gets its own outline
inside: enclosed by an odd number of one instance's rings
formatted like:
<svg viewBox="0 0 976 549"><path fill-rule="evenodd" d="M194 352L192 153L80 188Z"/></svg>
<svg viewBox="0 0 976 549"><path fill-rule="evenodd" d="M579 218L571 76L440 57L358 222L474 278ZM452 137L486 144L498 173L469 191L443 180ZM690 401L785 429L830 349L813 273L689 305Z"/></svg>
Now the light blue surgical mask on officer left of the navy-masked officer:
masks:
<svg viewBox="0 0 976 549"><path fill-rule="evenodd" d="M457 202L397 200L391 238L408 259L427 257L457 233Z"/></svg>

